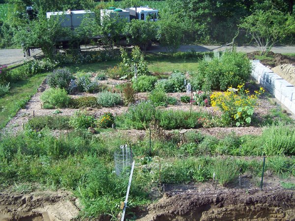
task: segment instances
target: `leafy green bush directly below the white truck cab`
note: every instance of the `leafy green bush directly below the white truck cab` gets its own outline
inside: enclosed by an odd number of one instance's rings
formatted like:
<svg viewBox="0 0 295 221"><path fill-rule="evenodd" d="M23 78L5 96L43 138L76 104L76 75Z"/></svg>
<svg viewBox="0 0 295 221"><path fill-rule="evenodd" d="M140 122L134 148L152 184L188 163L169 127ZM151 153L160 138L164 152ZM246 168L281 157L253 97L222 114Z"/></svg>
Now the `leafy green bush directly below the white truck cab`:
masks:
<svg viewBox="0 0 295 221"><path fill-rule="evenodd" d="M156 39L157 24L155 22L133 19L127 23L124 34L128 43L141 47L144 51Z"/></svg>

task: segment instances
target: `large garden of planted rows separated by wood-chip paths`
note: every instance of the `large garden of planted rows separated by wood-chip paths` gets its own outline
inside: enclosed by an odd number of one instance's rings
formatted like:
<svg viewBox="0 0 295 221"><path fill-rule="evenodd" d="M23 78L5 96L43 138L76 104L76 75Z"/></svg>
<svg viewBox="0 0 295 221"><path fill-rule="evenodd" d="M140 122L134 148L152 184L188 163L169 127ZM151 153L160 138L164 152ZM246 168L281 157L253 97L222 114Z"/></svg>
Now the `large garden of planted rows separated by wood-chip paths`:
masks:
<svg viewBox="0 0 295 221"><path fill-rule="evenodd" d="M247 174L258 187L263 156L264 187L276 177L280 188L294 188L294 120L251 81L246 55L198 55L189 72L151 72L137 47L120 55L91 72L42 66L54 71L1 132L1 189L66 189L79 199L78 219L116 220L129 176L114 173L123 144L136 162L131 220L163 185L209 186L214 174L222 189ZM4 83L19 78L17 69L4 72Z"/></svg>

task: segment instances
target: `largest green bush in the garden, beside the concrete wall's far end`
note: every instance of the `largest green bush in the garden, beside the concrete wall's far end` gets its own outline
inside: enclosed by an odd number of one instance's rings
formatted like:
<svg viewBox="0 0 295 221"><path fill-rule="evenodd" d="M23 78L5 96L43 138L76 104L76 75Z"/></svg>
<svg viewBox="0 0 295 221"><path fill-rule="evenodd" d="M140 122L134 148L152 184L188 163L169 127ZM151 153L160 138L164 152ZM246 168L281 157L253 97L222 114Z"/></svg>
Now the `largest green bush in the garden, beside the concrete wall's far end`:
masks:
<svg viewBox="0 0 295 221"><path fill-rule="evenodd" d="M194 90L226 90L245 83L251 74L252 65L245 54L225 52L213 58L205 57L193 76Z"/></svg>

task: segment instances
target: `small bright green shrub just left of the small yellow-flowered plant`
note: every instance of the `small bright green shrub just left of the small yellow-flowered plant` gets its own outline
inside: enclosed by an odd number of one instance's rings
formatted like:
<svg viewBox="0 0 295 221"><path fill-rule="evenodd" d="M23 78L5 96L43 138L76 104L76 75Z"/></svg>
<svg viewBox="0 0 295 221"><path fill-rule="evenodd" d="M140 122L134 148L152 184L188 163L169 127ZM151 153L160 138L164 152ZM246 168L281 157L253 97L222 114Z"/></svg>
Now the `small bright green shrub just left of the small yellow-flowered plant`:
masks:
<svg viewBox="0 0 295 221"><path fill-rule="evenodd" d="M76 111L69 120L69 125L74 128L75 131L88 129L93 126L93 123L94 117L89 116L85 111Z"/></svg>

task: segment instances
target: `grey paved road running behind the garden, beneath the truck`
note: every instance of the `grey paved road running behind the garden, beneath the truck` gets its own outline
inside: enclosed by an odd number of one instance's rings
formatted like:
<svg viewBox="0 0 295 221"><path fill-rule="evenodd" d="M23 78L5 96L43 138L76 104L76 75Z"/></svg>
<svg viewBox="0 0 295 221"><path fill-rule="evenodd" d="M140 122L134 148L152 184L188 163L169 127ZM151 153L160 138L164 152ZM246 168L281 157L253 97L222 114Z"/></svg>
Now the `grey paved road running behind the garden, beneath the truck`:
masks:
<svg viewBox="0 0 295 221"><path fill-rule="evenodd" d="M209 50L214 50L216 48L219 48L220 46L206 46L206 45L182 45L179 47L178 51L179 52L187 52L187 51L195 51L195 52L206 52ZM217 50L223 51L225 49L231 49L230 46L227 47L222 47ZM253 46L240 46L236 47L236 50L239 52L254 52L254 51L259 51L258 47L253 47ZM288 47L273 47L272 52L274 53L295 53L295 46L288 46ZM152 46L152 49L150 52L167 52L164 47L159 47L159 46ZM42 52L40 49L36 49L34 53L31 53L31 57L33 55L42 55ZM28 59L24 57L24 53L21 49L2 49L0 50L0 64L16 64L18 62L22 62L24 59Z"/></svg>

